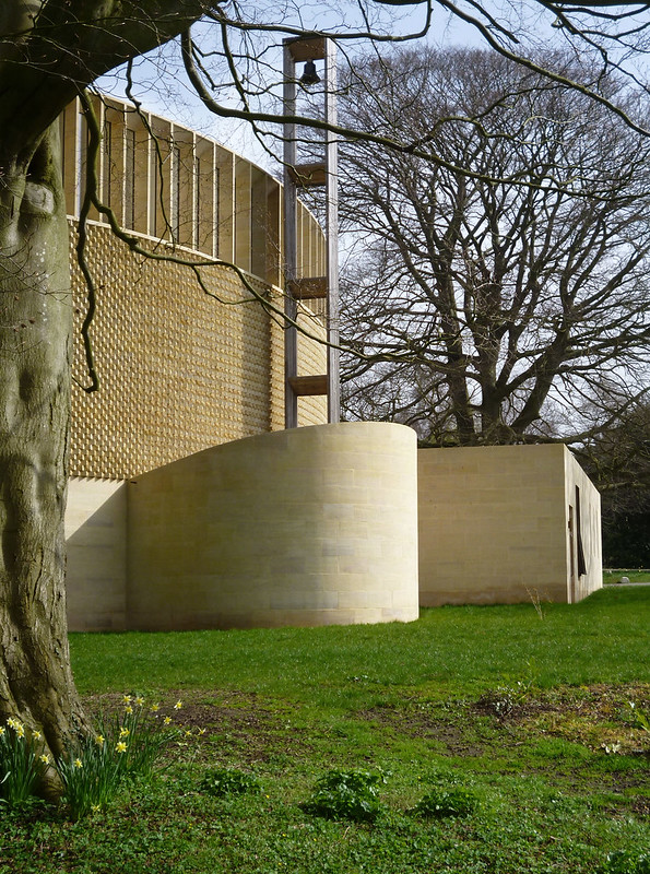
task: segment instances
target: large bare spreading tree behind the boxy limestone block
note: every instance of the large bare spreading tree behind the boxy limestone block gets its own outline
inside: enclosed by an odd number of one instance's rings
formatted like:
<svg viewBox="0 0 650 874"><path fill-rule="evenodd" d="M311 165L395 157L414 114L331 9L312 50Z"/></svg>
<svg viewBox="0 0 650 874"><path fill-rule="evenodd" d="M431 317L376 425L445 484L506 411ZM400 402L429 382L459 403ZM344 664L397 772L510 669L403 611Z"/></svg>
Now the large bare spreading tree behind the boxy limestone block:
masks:
<svg viewBox="0 0 650 874"><path fill-rule="evenodd" d="M539 63L582 72L565 54ZM639 118L637 95L617 88L601 82ZM357 240L344 285L350 415L412 424L434 444L512 442L553 434L551 402L577 410L604 374L642 388L646 138L484 50L371 59L344 117L430 149L343 147Z"/></svg>

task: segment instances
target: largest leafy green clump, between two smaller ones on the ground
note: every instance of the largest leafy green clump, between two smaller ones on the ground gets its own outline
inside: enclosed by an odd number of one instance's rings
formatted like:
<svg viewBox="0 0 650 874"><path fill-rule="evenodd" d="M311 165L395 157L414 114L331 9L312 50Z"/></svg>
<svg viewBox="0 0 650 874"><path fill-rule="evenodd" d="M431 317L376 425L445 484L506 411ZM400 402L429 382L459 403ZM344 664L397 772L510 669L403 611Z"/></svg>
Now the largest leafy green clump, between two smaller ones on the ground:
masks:
<svg viewBox="0 0 650 874"><path fill-rule="evenodd" d="M383 810L378 789L381 783L386 783L382 771L330 770L317 781L303 810L327 819L371 823Z"/></svg>

